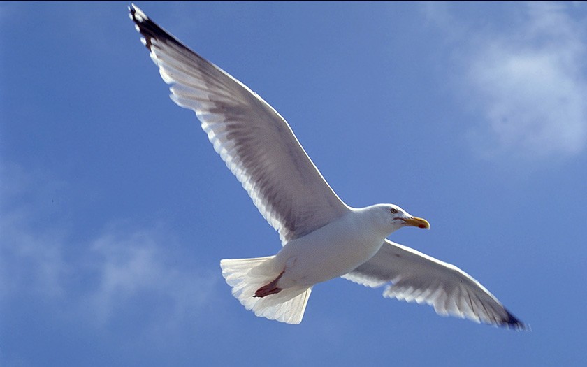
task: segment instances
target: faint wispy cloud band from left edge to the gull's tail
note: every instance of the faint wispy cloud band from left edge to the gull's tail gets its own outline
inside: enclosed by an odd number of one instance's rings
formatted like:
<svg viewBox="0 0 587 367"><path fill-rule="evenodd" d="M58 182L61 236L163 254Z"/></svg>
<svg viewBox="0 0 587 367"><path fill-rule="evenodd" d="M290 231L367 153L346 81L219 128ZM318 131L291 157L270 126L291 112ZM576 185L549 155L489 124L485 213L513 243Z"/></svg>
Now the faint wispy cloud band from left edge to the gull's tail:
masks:
<svg viewBox="0 0 587 367"><path fill-rule="evenodd" d="M164 225L118 222L74 240L58 219L46 223L35 199L54 180L16 165L0 164L0 173L0 309L36 299L52 317L108 328L140 308L149 316L143 326L161 329L214 301L219 270L184 256Z"/></svg>

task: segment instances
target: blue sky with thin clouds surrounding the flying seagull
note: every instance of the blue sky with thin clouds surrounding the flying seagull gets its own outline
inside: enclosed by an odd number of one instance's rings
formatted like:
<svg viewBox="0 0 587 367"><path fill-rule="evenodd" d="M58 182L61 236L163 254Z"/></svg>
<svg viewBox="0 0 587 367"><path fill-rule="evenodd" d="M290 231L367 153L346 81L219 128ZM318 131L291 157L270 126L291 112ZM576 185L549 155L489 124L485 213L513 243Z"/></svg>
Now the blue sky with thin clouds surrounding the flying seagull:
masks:
<svg viewBox="0 0 587 367"><path fill-rule="evenodd" d="M553 366L587 358L585 3L138 3L283 115L350 206L531 332L381 289L254 317L224 258L277 233L175 106L128 3L0 3L0 365Z"/></svg>

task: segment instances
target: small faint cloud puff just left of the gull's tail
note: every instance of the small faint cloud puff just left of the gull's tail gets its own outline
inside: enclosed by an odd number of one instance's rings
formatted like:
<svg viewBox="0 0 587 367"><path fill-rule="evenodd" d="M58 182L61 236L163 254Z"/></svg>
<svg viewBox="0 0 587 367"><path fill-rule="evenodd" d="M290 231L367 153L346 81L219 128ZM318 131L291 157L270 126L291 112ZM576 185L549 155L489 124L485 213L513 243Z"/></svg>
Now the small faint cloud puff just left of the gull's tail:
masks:
<svg viewBox="0 0 587 367"><path fill-rule="evenodd" d="M219 271L177 264L168 254L170 241L161 227L131 232L113 228L92 241L90 267L99 282L83 303L92 309L94 322L107 323L141 294L164 301L166 320L159 321L165 323L179 322L213 301Z"/></svg>

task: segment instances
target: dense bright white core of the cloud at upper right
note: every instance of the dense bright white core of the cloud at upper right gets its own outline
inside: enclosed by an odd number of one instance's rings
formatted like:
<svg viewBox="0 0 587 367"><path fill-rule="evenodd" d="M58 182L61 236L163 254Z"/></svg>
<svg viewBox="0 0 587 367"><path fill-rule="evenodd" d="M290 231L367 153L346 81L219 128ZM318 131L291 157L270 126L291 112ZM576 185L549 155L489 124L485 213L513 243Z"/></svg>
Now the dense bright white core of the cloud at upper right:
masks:
<svg viewBox="0 0 587 367"><path fill-rule="evenodd" d="M554 50L512 50L495 44L474 60L470 80L483 99L486 126L493 136L489 153L530 157L572 155L587 137L587 87ZM562 51L562 50L561 50Z"/></svg>

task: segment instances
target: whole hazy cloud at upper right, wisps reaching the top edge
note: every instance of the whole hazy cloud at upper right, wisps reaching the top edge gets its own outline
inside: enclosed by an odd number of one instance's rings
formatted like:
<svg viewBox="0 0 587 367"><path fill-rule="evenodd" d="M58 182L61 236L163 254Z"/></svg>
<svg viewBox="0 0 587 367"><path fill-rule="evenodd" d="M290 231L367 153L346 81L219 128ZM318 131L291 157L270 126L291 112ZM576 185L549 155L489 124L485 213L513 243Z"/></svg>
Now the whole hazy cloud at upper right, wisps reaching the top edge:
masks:
<svg viewBox="0 0 587 367"><path fill-rule="evenodd" d="M501 29L467 29L440 10L440 27L458 24L451 34L466 49L458 52L461 97L481 119L469 129L477 152L541 161L585 150L587 38L572 5L531 3Z"/></svg>

